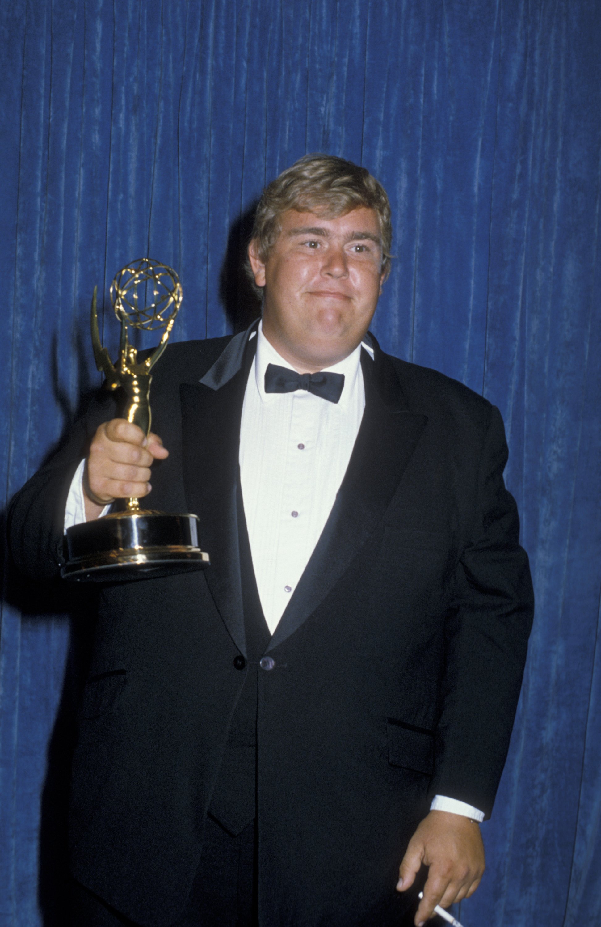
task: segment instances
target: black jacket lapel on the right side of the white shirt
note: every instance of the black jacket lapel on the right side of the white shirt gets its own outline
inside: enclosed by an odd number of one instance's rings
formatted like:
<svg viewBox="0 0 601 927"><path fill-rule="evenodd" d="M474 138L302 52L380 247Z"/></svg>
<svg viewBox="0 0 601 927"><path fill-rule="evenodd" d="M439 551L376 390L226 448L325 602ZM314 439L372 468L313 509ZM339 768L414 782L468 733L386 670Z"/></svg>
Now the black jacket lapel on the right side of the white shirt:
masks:
<svg viewBox="0 0 601 927"><path fill-rule="evenodd" d="M394 367L374 345L362 351L365 412L332 513L269 643L285 641L351 565L391 502L427 417L407 410Z"/></svg>

